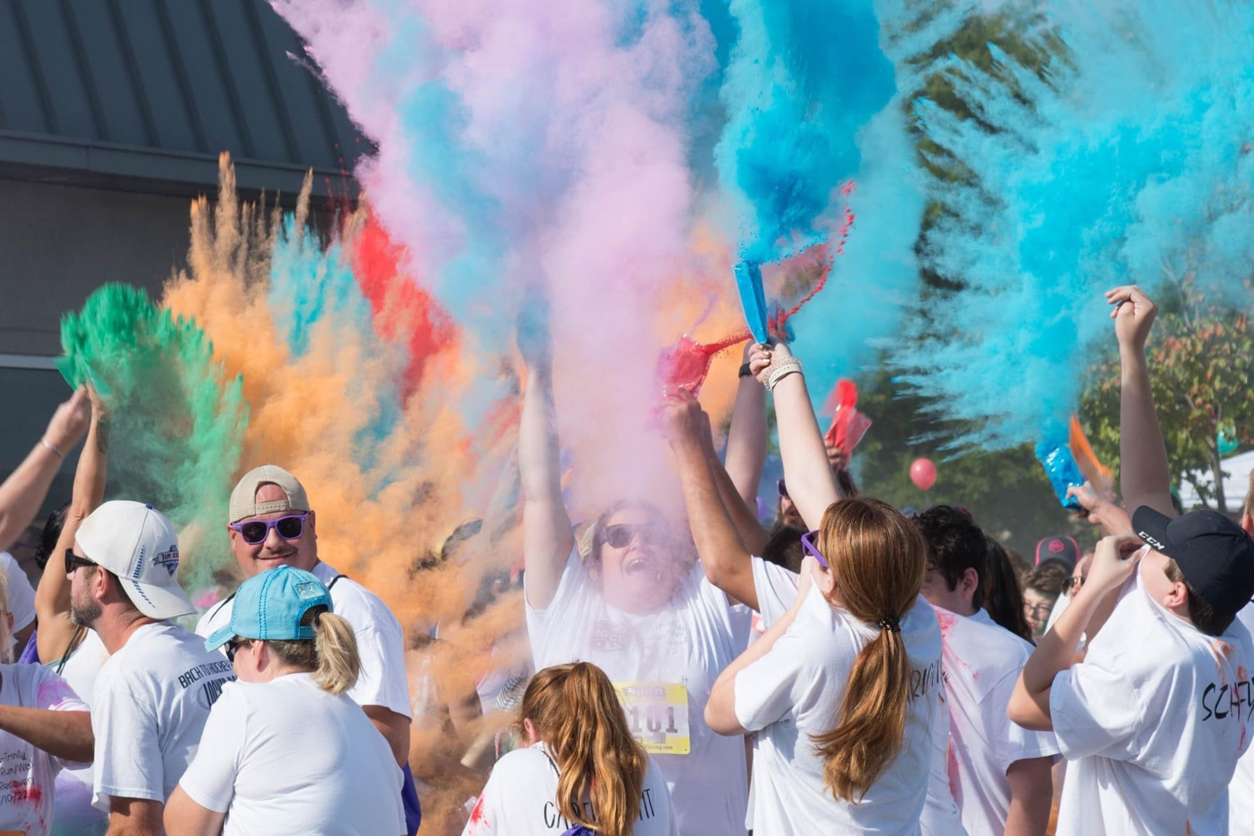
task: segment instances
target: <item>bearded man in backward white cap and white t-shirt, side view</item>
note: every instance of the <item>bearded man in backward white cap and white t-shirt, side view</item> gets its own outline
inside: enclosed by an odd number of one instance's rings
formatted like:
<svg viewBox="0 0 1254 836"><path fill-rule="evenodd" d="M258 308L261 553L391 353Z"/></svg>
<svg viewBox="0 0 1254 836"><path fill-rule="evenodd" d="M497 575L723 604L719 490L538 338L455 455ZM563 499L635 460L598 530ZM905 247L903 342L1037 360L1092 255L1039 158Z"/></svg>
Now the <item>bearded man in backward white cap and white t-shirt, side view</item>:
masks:
<svg viewBox="0 0 1254 836"><path fill-rule="evenodd" d="M92 696L95 803L113 832L158 836L162 807L196 755L222 687L219 654L169 619L196 612L178 585L178 536L166 516L104 503L65 553L74 620L109 652Z"/></svg>

